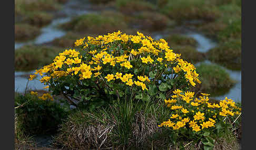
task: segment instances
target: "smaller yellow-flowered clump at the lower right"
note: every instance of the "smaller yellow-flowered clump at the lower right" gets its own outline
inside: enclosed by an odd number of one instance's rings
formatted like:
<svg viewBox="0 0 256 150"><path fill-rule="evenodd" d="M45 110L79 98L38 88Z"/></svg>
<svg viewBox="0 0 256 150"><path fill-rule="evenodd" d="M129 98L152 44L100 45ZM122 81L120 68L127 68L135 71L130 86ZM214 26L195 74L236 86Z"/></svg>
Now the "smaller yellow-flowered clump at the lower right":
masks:
<svg viewBox="0 0 256 150"><path fill-rule="evenodd" d="M227 97L216 104L209 102L210 94L201 94L195 98L194 92L173 91L171 99L164 100L172 110L170 119L159 126L173 132L173 141L178 137L190 137L194 142L201 139L204 149L211 149L214 138L220 137L240 117L241 108Z"/></svg>

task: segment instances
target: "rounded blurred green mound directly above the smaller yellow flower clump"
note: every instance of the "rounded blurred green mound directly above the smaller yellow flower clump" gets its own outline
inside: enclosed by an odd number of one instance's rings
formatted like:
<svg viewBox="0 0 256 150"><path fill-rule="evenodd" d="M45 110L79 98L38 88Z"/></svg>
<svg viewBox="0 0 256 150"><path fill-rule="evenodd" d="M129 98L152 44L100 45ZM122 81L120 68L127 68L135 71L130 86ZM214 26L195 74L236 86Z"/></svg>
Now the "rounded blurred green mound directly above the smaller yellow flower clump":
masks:
<svg viewBox="0 0 256 150"><path fill-rule="evenodd" d="M218 65L201 63L196 67L196 72L199 73L199 80L202 81L196 86L197 90L211 93L212 96L218 95L221 91L227 92L235 83L229 73Z"/></svg>

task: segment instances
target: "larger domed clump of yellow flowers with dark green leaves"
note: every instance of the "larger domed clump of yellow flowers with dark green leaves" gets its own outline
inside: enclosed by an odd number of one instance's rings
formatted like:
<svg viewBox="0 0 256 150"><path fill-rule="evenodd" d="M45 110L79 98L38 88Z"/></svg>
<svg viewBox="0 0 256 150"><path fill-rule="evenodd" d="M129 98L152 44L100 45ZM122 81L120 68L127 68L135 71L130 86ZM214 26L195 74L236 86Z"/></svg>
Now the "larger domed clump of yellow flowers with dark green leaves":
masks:
<svg viewBox="0 0 256 150"><path fill-rule="evenodd" d="M118 31L78 39L75 46L81 50L65 50L35 72L53 94L63 94L74 105L100 106L122 98L164 100L174 89L201 83L195 67L164 39Z"/></svg>

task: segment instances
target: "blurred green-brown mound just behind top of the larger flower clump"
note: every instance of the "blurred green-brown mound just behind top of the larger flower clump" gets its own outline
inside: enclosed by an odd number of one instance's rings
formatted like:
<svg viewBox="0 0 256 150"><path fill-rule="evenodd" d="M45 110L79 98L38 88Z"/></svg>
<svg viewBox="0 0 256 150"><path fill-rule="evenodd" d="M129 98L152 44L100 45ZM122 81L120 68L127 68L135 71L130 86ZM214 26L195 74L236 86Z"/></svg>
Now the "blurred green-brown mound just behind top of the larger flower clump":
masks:
<svg viewBox="0 0 256 150"><path fill-rule="evenodd" d="M109 15L112 14L112 15ZM124 17L116 13L85 14L77 16L71 22L61 25L66 30L73 30L88 34L104 34L127 28Z"/></svg>

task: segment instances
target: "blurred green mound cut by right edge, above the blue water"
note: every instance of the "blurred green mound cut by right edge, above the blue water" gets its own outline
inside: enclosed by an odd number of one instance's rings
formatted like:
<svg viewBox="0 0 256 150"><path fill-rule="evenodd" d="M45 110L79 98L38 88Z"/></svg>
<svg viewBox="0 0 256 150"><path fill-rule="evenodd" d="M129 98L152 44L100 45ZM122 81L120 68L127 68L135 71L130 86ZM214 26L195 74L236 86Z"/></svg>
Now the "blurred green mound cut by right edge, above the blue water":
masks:
<svg viewBox="0 0 256 150"><path fill-rule="evenodd" d="M237 70L241 69L241 52L241 39L231 39L210 49L206 55L213 62Z"/></svg>

